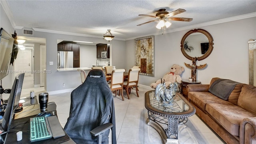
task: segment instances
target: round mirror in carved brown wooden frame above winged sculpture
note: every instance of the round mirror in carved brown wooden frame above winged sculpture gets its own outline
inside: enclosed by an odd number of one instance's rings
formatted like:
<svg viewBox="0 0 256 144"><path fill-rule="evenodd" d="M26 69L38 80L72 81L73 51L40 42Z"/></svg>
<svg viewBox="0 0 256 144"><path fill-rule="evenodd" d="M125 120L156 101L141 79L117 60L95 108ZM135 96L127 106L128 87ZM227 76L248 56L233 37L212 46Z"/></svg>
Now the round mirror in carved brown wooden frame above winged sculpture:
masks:
<svg viewBox="0 0 256 144"><path fill-rule="evenodd" d="M213 38L209 32L203 29L194 29L187 32L180 43L182 54L192 60L207 58L213 49Z"/></svg>

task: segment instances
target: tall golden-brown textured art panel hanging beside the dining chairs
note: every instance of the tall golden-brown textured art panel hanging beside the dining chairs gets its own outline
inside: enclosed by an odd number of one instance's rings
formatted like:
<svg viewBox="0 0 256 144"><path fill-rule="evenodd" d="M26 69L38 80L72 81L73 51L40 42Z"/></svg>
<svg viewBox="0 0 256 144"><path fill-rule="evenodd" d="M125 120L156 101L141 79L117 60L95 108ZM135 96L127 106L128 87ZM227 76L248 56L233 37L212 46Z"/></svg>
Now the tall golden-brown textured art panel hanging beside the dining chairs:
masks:
<svg viewBox="0 0 256 144"><path fill-rule="evenodd" d="M140 66L140 73L154 76L154 36L135 39L135 65Z"/></svg>

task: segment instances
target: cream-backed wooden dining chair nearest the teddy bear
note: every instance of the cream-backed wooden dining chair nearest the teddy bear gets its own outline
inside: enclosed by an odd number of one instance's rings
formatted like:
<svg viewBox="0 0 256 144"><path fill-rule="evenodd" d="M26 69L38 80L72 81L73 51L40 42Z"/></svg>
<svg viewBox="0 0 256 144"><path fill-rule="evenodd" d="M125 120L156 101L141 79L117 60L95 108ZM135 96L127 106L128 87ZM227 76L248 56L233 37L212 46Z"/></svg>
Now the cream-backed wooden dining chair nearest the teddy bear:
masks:
<svg viewBox="0 0 256 144"><path fill-rule="evenodd" d="M130 99L129 94L131 93L131 88L136 88L137 96L138 94L138 79L139 79L140 68L131 68L128 72L128 80L124 81L123 88L125 89L128 99Z"/></svg>

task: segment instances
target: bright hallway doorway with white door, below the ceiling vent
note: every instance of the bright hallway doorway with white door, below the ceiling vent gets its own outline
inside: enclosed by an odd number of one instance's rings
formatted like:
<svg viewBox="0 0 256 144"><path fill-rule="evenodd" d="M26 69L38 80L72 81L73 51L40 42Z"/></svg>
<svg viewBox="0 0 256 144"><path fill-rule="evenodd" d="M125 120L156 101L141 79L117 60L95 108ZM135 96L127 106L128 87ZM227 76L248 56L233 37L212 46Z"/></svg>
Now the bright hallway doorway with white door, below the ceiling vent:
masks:
<svg viewBox="0 0 256 144"><path fill-rule="evenodd" d="M17 58L16 60L14 60L15 72L25 73L22 89L24 88L32 89L32 88L39 88L39 87L44 88L45 78L41 78L42 75L40 73L42 72L41 68L45 68L45 62L41 62L40 59L42 58L43 60L46 60L46 52L45 52L46 39L36 38L36 37L27 37L27 36L17 36L17 38L26 40L26 42L22 44L26 49L20 50L19 48ZM41 46L44 46L43 52L41 50ZM30 53L27 51L30 51ZM40 54L41 52L43 54ZM26 58L30 60L30 63L26 62ZM44 63L44 66L41 66L41 64L43 63ZM23 65L25 65L25 67L30 65L30 68L25 69L23 68L24 67Z"/></svg>

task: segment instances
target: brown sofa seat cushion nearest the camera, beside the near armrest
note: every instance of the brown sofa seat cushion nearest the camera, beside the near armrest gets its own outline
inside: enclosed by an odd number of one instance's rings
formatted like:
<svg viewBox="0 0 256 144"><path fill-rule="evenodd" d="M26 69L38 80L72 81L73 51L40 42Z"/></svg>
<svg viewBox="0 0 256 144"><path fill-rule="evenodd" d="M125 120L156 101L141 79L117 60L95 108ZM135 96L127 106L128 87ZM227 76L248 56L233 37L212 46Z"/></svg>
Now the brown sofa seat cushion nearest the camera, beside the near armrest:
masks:
<svg viewBox="0 0 256 144"><path fill-rule="evenodd" d="M206 104L205 109L210 116L234 136L239 136L240 122L242 122L244 118L256 116L240 106L229 104L209 103Z"/></svg>

